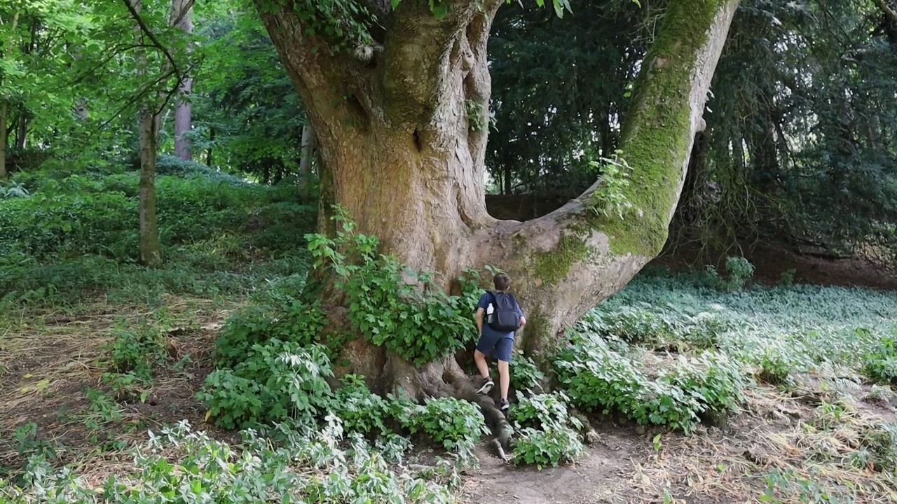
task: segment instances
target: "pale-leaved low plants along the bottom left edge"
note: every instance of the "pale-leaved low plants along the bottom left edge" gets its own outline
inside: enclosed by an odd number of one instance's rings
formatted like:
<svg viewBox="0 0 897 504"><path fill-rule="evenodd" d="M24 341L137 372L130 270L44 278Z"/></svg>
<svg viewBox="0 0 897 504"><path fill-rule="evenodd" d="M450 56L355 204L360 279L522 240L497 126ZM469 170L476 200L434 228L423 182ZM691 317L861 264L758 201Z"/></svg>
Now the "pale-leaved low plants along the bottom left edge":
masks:
<svg viewBox="0 0 897 504"><path fill-rule="evenodd" d="M54 471L42 458L27 467L24 488L0 488L11 504L96 502L407 502L448 503L451 488L419 474L399 473L363 439L348 439L338 427L300 432L284 427L283 442L244 433L237 453L225 443L194 432L186 421L152 433L134 450L132 478L109 475L99 485L70 469ZM167 454L177 454L174 461ZM453 467L444 473L457 481ZM454 476L454 477L453 477Z"/></svg>

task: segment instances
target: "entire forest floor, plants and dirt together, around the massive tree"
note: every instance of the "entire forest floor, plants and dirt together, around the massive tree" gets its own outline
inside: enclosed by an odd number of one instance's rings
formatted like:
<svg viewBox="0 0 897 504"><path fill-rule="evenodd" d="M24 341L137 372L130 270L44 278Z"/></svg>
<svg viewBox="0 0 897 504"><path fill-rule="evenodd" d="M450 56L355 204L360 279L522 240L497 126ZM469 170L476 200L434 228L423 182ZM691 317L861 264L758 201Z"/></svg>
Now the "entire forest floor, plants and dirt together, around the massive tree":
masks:
<svg viewBox="0 0 897 504"><path fill-rule="evenodd" d="M298 293L310 257L335 244L295 246L312 220L289 191L163 176L161 207L192 224L163 226L170 260L146 270L106 217L133 203L113 187L127 177L66 180L102 204L36 203L41 187L64 191L40 178L0 199L0 219L37 213L52 231L0 234L4 500L897 501L893 292L790 275L756 285L738 257L719 272L647 270L570 331L551 369L513 363L517 444L504 460L475 404L333 376L338 345L315 343L324 315ZM204 204L187 204L199 193ZM240 201L256 210L230 215ZM281 218L246 224L274 209ZM105 248L90 239L101 232ZM361 254L345 286L362 296L361 324L398 299L399 265L365 259L372 237L344 239ZM53 290L30 280L53 268ZM362 294L366 282L381 291ZM401 308L448 327L466 302Z"/></svg>

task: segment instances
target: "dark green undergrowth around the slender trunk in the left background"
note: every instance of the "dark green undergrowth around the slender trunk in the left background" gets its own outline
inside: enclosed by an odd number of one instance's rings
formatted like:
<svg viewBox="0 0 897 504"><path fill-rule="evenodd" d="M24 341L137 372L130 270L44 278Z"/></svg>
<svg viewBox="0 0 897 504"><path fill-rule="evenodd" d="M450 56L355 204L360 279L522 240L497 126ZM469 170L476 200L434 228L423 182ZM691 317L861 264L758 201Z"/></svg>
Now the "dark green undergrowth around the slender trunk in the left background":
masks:
<svg viewBox="0 0 897 504"><path fill-rule="evenodd" d="M316 207L289 184L248 184L197 163L156 178L163 265L136 264L137 175L39 170L0 196L0 309L158 301L164 294L242 295L304 274L296 237ZM164 170L163 170L164 172Z"/></svg>

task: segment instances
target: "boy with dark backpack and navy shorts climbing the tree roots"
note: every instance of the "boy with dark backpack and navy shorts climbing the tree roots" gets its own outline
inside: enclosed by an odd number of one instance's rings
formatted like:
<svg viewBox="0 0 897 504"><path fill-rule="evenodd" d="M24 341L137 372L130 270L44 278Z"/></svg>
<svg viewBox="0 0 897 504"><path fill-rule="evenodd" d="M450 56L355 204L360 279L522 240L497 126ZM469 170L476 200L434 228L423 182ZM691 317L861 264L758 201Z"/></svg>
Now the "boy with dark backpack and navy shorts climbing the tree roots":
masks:
<svg viewBox="0 0 897 504"><path fill-rule="evenodd" d="M510 373L508 363L510 354L514 348L514 331L527 324L527 317L523 316L514 295L508 292L510 278L507 274L496 274L492 278L495 291L487 291L476 303L476 328L480 331L480 341L476 343L474 361L476 369L483 376L483 386L476 391L477 394L488 394L495 383L489 378L489 367L486 365L486 355L490 354L499 361L499 385L501 388L501 412L508 411L508 387ZM485 324L483 324L485 318Z"/></svg>

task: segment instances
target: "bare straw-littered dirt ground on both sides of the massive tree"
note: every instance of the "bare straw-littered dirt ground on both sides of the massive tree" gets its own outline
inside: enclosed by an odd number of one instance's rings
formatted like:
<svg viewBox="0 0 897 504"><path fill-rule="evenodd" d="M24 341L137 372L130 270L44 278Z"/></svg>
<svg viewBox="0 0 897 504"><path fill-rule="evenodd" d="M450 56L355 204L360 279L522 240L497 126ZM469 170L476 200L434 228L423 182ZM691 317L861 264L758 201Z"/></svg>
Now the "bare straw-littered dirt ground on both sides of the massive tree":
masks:
<svg viewBox="0 0 897 504"><path fill-rule="evenodd" d="M826 262L774 248L761 252L752 252L749 258L763 278L776 279L780 272L796 268L797 281L897 288L891 275L867 264ZM656 264L686 262L666 256ZM210 371L209 352L233 306L198 299L170 303L176 308L169 332L176 357L190 359L158 378L145 404L124 404L122 421L115 427L104 417L108 412L91 404L84 392L102 387L100 377L106 369L100 365L101 347L110 341L117 317L146 314L137 309L123 314L121 307L98 303L66 317L19 321L7 317L10 323L0 326L0 470L21 465L13 430L29 421L37 423L40 439L58 449L59 461L93 460L76 469L96 481L126 466L123 445L117 441L145 439L146 430L164 423L187 419L222 438L231 437L232 433L216 432L205 423L204 408L194 394ZM483 447L481 467L467 475L459 500L466 504L756 502L767 485L763 474L771 469L803 470L807 453L814 450L835 459L852 453L849 439L806 429L817 420L820 396L833 393L831 387L821 387L820 380L837 383L831 378L805 377L790 395L775 387L758 387L751 391L745 412L726 426L701 427L688 437L593 419L597 441L575 465L518 469ZM852 404L849 421L854 430L893 418L897 404L876 403L865 387L843 387L841 396ZM104 463L97 464L100 460ZM897 490L875 490L874 477L871 468L832 475L844 484L871 485L874 491L856 502L897 502Z"/></svg>

